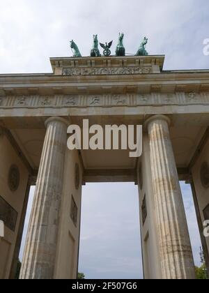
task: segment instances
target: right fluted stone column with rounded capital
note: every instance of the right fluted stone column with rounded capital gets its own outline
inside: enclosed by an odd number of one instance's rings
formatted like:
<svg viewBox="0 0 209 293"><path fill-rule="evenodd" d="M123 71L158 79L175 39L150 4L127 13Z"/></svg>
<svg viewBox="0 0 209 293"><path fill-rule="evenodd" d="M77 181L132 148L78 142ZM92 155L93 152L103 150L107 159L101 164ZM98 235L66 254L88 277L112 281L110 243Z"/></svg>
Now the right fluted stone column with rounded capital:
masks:
<svg viewBox="0 0 209 293"><path fill-rule="evenodd" d="M162 278L192 279L196 278L194 260L169 124L163 115L146 121Z"/></svg>

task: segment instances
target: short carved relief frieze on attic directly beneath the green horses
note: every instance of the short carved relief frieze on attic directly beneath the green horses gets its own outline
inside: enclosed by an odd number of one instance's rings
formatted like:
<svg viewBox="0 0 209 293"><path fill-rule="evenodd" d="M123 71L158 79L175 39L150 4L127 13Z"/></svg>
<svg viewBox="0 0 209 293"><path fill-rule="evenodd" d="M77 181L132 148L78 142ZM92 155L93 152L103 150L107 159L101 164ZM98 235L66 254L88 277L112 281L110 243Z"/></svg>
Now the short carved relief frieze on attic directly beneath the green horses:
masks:
<svg viewBox="0 0 209 293"><path fill-rule="evenodd" d="M63 75L133 75L152 73L151 66L63 68Z"/></svg>

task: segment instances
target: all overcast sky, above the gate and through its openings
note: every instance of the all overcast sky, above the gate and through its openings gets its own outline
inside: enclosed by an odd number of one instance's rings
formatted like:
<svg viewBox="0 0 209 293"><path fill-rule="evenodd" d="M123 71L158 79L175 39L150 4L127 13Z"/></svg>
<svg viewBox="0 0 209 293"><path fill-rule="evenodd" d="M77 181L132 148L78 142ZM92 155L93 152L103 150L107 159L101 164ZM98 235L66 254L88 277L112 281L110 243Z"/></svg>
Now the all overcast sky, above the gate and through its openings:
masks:
<svg viewBox="0 0 209 293"><path fill-rule="evenodd" d="M72 39L87 56L95 33L102 43L114 40L114 52L119 32L132 54L147 36L148 52L166 55L164 69L209 68L203 55L208 11L207 0L0 0L0 73L51 72L49 57L71 56ZM183 186L183 195L199 263L189 186ZM87 278L141 278L136 186L87 185L82 206L80 271Z"/></svg>

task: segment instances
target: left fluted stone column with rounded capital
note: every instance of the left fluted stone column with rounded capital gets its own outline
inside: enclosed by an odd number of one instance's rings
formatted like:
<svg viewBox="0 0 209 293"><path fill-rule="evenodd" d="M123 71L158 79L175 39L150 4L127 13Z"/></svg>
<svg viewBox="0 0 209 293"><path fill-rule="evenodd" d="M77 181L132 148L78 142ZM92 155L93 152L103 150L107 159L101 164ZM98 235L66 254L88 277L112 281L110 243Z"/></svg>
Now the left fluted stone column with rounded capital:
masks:
<svg viewBox="0 0 209 293"><path fill-rule="evenodd" d="M47 119L20 278L52 279L59 229L68 123Z"/></svg>

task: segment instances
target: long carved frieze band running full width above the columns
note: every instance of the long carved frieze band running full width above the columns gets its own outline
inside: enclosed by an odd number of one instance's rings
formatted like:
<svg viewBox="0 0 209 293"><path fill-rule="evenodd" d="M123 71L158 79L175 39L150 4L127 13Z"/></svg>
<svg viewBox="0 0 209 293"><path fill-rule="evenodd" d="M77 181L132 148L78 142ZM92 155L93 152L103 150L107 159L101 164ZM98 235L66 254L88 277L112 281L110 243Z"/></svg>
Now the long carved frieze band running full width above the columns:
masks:
<svg viewBox="0 0 209 293"><path fill-rule="evenodd" d="M6 96L0 109L209 105L209 93L124 93L102 95Z"/></svg>

